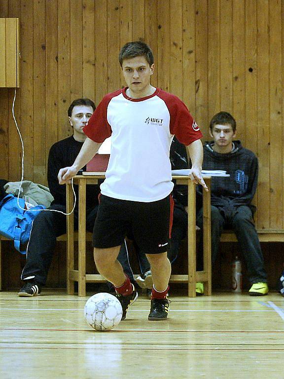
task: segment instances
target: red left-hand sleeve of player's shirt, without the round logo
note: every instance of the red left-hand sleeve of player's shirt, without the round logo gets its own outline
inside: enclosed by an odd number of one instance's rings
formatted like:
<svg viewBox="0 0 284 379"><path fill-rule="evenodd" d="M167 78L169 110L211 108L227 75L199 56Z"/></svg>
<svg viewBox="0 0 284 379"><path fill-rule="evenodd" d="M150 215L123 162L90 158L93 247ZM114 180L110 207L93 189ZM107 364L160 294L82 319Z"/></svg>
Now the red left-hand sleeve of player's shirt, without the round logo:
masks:
<svg viewBox="0 0 284 379"><path fill-rule="evenodd" d="M111 136L111 127L107 122L107 107L110 100L119 93L121 93L121 90L107 94L83 128L86 136L94 142L103 143L106 138Z"/></svg>

